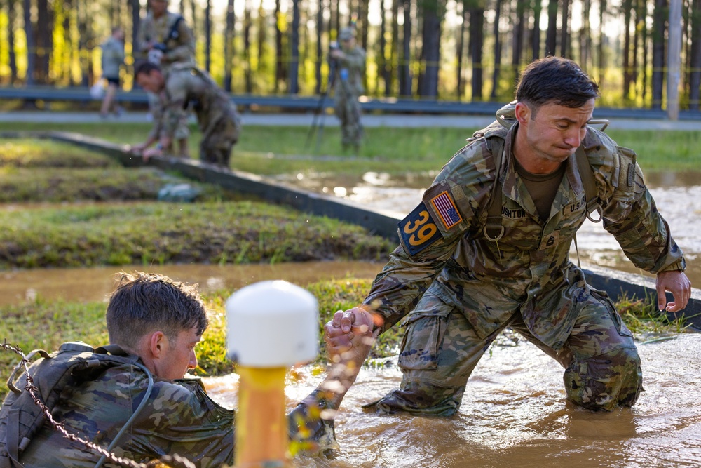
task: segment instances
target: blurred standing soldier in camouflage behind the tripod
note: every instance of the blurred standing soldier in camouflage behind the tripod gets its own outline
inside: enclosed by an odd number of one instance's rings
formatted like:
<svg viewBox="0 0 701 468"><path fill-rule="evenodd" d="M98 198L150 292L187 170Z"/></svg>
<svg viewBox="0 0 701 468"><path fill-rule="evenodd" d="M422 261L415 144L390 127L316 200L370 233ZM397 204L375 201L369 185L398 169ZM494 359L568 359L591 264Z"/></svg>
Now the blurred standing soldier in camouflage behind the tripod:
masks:
<svg viewBox="0 0 701 468"><path fill-rule="evenodd" d="M360 103L358 96L365 91L362 86L362 72L365 69L365 50L355 44L355 29L344 27L339 32L341 48L329 52L334 76L335 111L341 121L341 144L343 149L353 147L355 152L362 142L360 124Z"/></svg>

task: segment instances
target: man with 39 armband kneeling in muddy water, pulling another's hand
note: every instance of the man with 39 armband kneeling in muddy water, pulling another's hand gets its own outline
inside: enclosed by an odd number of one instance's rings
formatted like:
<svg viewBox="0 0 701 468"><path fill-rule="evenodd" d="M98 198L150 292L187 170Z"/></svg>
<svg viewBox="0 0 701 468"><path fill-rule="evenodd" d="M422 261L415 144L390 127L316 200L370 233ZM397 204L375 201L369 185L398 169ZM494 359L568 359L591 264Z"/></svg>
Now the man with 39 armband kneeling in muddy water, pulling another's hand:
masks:
<svg viewBox="0 0 701 468"><path fill-rule="evenodd" d="M569 260L571 242L587 216L603 219L629 260L657 275L660 310L686 307L690 282L636 154L587 126L598 96L571 60L531 63L515 102L468 140L399 223L401 245L363 304L325 326L327 343L351 350L369 335L354 323L379 322L374 335L399 321L406 328L400 389L367 408L454 415L470 373L506 327L562 365L576 405L637 401L632 333ZM358 363L365 356L367 346L355 351ZM343 394L326 403L337 408Z"/></svg>

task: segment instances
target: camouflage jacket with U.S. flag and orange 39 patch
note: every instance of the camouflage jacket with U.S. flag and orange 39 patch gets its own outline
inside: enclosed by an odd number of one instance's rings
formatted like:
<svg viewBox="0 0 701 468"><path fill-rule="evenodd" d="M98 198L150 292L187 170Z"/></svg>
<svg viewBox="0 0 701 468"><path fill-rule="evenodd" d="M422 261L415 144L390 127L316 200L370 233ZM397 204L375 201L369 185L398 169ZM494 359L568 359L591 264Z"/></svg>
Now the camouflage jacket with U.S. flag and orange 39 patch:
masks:
<svg viewBox="0 0 701 468"><path fill-rule="evenodd" d="M496 123L477 132L444 166L423 202L399 223L402 245L364 302L385 317L386 330L428 290L461 311L482 337L520 311L531 333L558 349L576 320L578 299L589 291L569 260L571 241L587 215L576 156L566 161L550 217L542 222L514 167L513 126L505 135L501 192L496 194L505 231L490 241L483 227L496 178L489 142L494 128ZM591 127L582 146L594 173L604 228L625 255L651 273L683 269L681 250L645 187L635 153Z"/></svg>

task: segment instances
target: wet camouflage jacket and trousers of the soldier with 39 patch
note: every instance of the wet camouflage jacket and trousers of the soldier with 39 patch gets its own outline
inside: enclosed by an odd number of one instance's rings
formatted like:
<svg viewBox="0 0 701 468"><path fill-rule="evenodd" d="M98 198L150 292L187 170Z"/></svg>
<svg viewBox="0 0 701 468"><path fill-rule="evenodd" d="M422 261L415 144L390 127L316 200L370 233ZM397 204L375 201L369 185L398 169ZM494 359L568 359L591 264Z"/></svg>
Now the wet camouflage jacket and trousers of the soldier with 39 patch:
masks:
<svg viewBox="0 0 701 468"><path fill-rule="evenodd" d="M505 108L498 115L512 112ZM606 293L587 285L569 260L573 236L587 216L576 156L565 162L542 221L515 169L515 128L505 133L495 122L475 133L399 224L402 245L364 301L384 316L383 329L401 319L406 327L402 384L374 403L381 412L456 413L477 361L507 326L562 364L570 401L612 410L637 400L641 369L632 334ZM505 138L496 194L504 231L491 241L484 226L496 177L492 138L498 135ZM644 185L635 153L591 127L582 147L604 228L627 257L647 272L683 271L682 252Z"/></svg>

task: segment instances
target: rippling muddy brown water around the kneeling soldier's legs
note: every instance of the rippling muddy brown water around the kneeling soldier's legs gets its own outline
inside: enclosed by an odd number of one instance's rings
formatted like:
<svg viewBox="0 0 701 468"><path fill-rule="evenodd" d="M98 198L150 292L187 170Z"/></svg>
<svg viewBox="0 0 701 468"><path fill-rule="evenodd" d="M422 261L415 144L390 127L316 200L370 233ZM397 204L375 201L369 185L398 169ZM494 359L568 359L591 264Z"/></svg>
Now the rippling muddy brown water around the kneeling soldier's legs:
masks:
<svg viewBox="0 0 701 468"><path fill-rule="evenodd" d="M298 455L295 467L699 467L701 335L639 344L644 387L633 408L592 413L564 399L562 369L528 342L493 345L450 418L364 413L397 387L395 363L364 369L336 414L341 450L329 460ZM288 379L288 410L318 384L308 368ZM210 394L237 405L238 377L207 379Z"/></svg>

